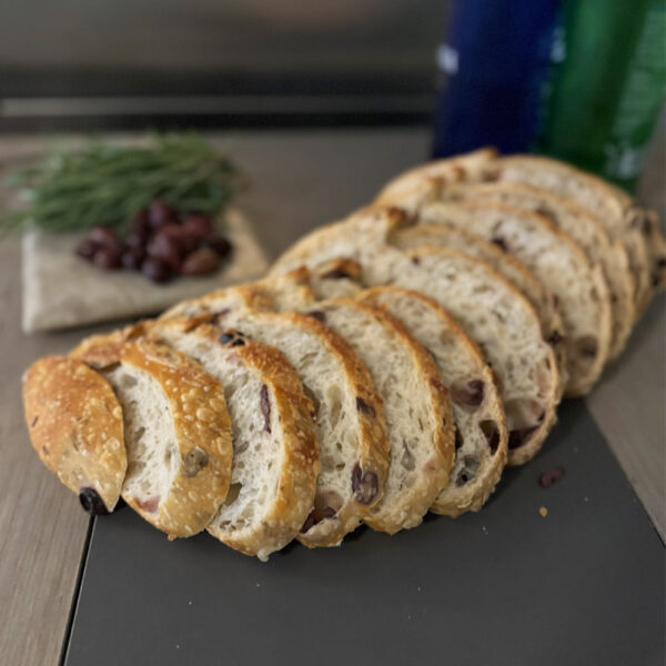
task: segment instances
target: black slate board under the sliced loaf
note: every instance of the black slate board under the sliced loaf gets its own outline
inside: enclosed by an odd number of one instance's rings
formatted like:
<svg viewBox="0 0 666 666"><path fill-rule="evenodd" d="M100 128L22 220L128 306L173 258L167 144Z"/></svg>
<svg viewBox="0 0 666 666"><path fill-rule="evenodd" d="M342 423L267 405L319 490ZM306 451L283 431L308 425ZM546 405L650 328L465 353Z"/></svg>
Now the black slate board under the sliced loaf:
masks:
<svg viewBox="0 0 666 666"><path fill-rule="evenodd" d="M97 519L64 664L662 666L664 591L662 541L567 401L481 513L394 537L261 564L205 534L169 543L129 508Z"/></svg>

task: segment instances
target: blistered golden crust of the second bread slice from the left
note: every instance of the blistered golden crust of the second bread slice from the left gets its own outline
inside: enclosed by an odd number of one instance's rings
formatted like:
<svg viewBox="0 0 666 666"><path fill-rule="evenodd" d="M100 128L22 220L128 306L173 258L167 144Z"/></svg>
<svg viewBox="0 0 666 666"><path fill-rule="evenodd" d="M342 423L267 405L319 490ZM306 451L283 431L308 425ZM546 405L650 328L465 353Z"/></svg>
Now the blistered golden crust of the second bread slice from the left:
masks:
<svg viewBox="0 0 666 666"><path fill-rule="evenodd" d="M194 361L145 339L128 342L121 363L147 373L163 391L181 456L169 493L155 512L125 490L123 500L170 537L192 536L208 527L229 490L231 423L223 389ZM205 462L192 472L188 461L194 453Z"/></svg>

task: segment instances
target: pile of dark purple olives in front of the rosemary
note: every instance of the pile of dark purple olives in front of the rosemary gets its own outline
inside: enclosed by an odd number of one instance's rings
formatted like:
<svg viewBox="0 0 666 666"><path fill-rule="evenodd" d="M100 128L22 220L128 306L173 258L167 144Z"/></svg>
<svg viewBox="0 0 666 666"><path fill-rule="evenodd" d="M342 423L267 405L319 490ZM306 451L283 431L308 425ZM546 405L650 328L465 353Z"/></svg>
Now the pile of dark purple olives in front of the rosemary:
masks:
<svg viewBox="0 0 666 666"><path fill-rule="evenodd" d="M101 269L141 271L154 282L176 275L203 275L220 268L231 243L214 233L205 213L179 213L155 200L132 220L127 238L110 226L94 226L77 254Z"/></svg>

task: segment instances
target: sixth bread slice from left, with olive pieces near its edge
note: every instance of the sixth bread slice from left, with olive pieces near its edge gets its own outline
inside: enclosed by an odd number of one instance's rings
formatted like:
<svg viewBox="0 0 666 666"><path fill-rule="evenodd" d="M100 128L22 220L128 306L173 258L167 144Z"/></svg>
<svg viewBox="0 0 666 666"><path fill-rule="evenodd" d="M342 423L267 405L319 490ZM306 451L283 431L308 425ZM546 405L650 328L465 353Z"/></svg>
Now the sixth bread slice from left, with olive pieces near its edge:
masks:
<svg viewBox="0 0 666 666"><path fill-rule="evenodd" d="M506 463L508 430L493 372L478 347L453 317L420 292L376 286L357 296L398 319L427 350L448 389L455 426L451 481L431 511L457 517L478 511L500 481Z"/></svg>

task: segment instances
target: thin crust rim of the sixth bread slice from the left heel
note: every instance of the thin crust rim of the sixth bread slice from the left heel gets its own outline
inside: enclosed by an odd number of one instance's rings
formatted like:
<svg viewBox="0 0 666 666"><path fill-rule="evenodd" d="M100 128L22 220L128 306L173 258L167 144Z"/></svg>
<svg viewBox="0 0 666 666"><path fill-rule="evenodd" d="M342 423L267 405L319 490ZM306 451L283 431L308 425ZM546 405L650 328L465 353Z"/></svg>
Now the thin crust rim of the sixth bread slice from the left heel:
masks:
<svg viewBox="0 0 666 666"><path fill-rule="evenodd" d="M457 486L455 480L450 480L448 484L437 495L431 506L433 513L455 518L468 511L476 512L481 509L500 482L507 458L508 428L506 426L506 417L497 387L495 386L493 372L485 362L480 349L436 301L421 292L402 286L373 286L360 292L357 297L363 302L374 303L380 307L391 311L392 296L401 294L413 300L418 300L426 305L440 319L442 332L455 336L461 346L465 349L468 359L472 360L476 369L475 376L480 376L485 385L483 413L478 415L478 420L491 418L497 425L497 447L494 453L483 456L478 472L474 478L462 486ZM397 316L400 319L400 315ZM426 350L428 349L426 341L423 340L417 330L408 327L408 331ZM454 361L451 360L450 365L453 363ZM455 413L453 414L453 420L454 424L456 424ZM456 427L460 427L460 425L456 424Z"/></svg>

